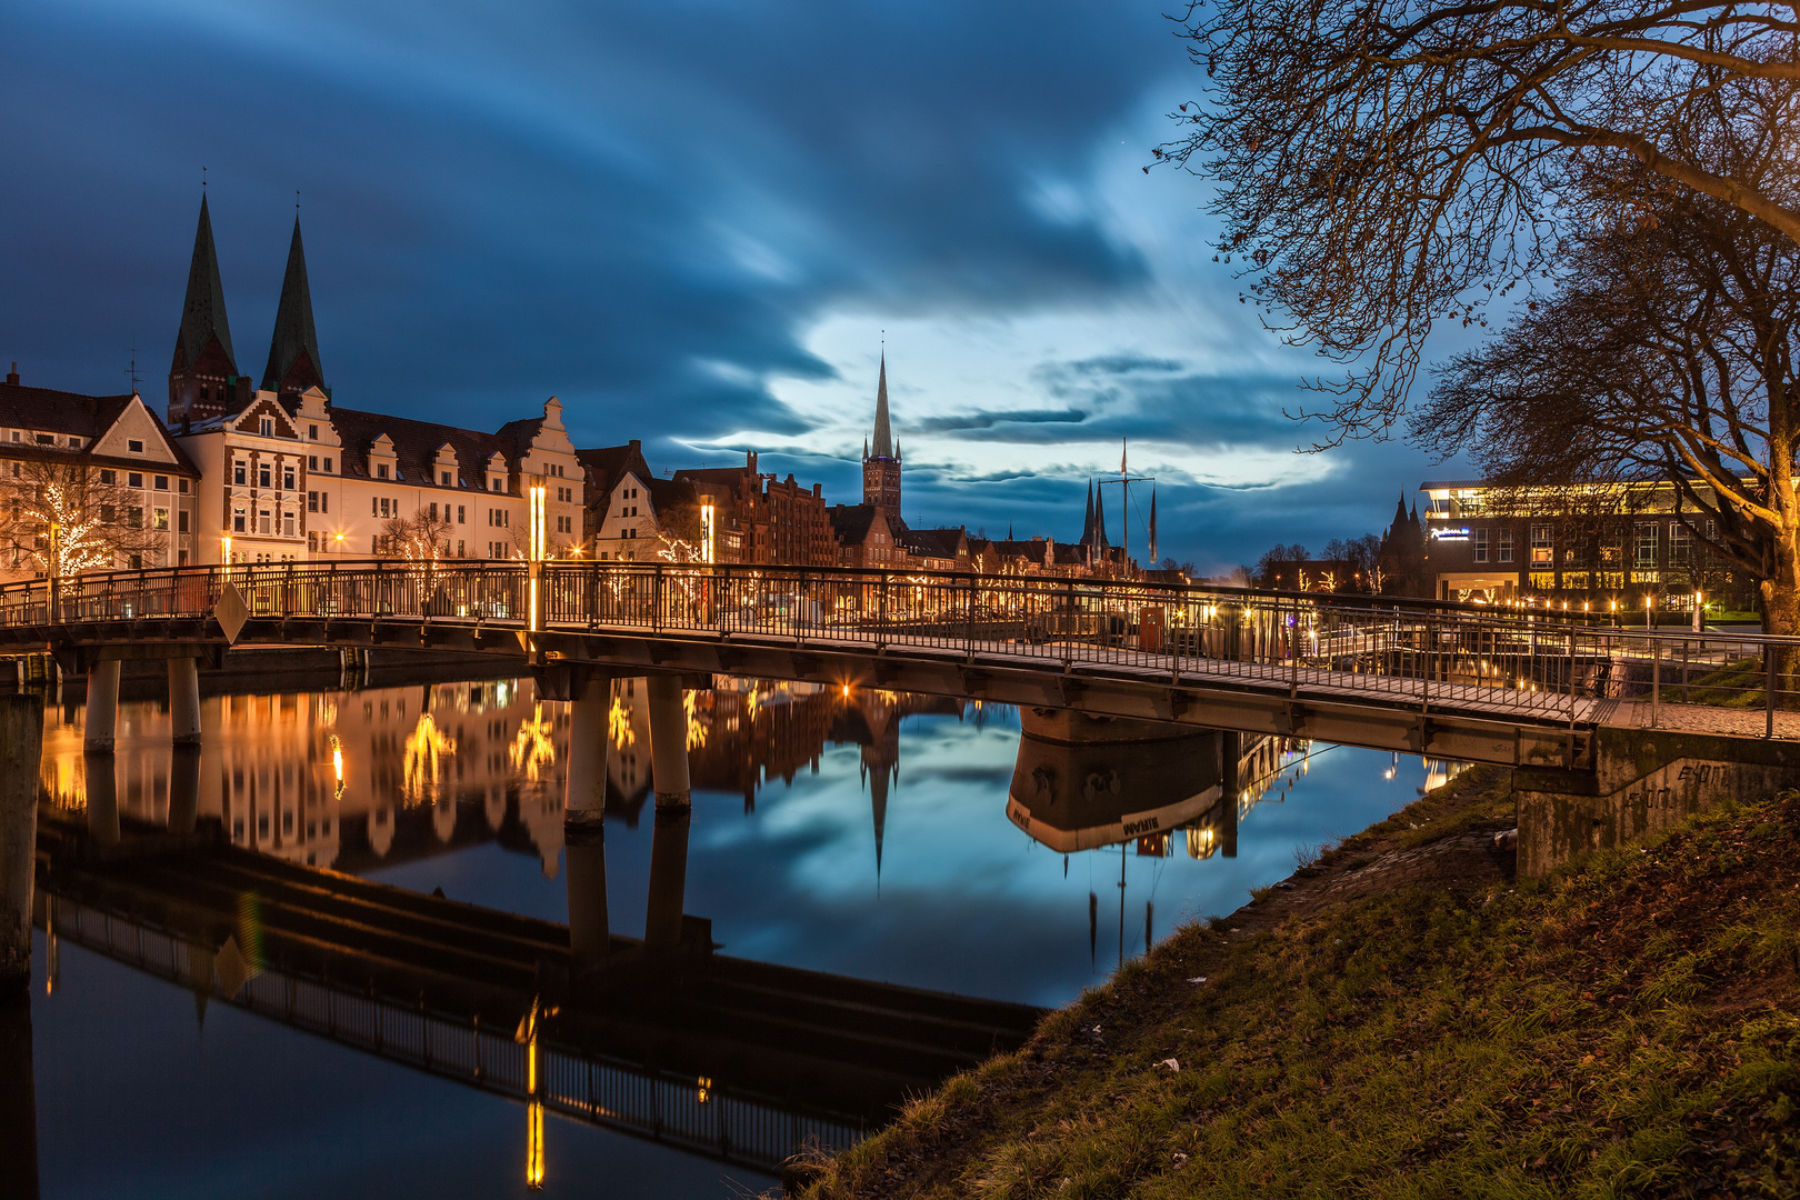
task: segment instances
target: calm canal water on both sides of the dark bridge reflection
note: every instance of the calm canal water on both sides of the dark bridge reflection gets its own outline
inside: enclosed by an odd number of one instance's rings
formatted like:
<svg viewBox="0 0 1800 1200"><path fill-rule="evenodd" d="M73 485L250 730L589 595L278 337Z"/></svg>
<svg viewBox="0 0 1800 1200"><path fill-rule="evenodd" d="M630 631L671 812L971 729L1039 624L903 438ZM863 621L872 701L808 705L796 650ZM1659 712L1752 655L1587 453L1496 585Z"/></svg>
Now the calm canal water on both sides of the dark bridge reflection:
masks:
<svg viewBox="0 0 1800 1200"><path fill-rule="evenodd" d="M1296 853L1386 817L1445 772L1251 743L1233 802L1217 739L761 680L720 678L689 705L682 909L711 921L718 954L1037 1006L1103 982L1181 921L1237 909ZM567 712L529 678L234 694L203 709L198 815L238 846L567 921ZM49 709L50 801L90 820L115 806L126 828L167 822L182 802L167 714L126 703L117 732L110 763L85 759L79 705ZM616 685L610 739L607 905L616 934L641 934L655 824L641 682ZM536 1141L513 1099L41 932L32 963L45 1196L776 1187L554 1114Z"/></svg>

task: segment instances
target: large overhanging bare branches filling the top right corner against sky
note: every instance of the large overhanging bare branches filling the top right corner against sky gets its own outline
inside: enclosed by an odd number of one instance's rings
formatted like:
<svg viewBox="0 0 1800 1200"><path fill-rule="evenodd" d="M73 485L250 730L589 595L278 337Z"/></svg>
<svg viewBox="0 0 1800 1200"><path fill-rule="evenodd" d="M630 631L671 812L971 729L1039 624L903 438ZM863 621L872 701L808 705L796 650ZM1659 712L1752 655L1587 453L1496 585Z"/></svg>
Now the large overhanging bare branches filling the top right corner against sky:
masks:
<svg viewBox="0 0 1800 1200"><path fill-rule="evenodd" d="M1600 155L1800 239L1800 20L1683 0L1215 0L1181 18L1211 95L1157 157L1220 182L1244 299L1343 365L1319 446L1384 437L1438 320L1553 264L1573 164ZM1697 131L1753 122L1723 166Z"/></svg>

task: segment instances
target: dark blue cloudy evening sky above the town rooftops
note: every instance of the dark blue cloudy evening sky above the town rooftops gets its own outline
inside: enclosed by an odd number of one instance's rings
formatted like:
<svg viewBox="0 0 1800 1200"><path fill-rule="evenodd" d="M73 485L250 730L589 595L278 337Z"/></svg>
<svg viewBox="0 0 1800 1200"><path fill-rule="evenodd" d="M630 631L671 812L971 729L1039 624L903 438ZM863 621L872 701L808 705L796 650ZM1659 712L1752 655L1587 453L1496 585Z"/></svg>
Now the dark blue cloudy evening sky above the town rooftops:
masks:
<svg viewBox="0 0 1800 1200"><path fill-rule="evenodd" d="M351 407L556 394L578 444L754 448L853 502L886 336L913 524L1073 540L1129 437L1202 569L1379 529L1454 468L1292 453L1318 363L1237 302L1204 184L1141 169L1199 88L1172 32L1148 0L14 2L0 360L110 392L135 349L160 399L205 167L239 367L299 191Z"/></svg>

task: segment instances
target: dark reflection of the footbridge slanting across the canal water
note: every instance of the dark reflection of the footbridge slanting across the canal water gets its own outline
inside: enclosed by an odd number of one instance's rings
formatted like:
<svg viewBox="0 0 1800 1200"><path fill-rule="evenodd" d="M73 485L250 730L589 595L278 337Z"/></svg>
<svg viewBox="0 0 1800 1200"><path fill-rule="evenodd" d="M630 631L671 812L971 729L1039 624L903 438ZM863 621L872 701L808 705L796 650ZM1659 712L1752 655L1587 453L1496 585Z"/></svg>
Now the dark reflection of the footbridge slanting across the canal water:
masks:
<svg viewBox="0 0 1800 1200"><path fill-rule="evenodd" d="M682 936L652 952L607 928L598 838L571 840L565 927L196 837L128 828L103 846L43 813L52 970L58 943L81 945L202 1006L225 997L524 1101L538 1169L547 1110L774 1171L808 1141L855 1142L909 1090L1021 1043L1040 1015L715 955L668 873L652 874L652 909L673 905ZM671 828L657 828L659 858Z"/></svg>

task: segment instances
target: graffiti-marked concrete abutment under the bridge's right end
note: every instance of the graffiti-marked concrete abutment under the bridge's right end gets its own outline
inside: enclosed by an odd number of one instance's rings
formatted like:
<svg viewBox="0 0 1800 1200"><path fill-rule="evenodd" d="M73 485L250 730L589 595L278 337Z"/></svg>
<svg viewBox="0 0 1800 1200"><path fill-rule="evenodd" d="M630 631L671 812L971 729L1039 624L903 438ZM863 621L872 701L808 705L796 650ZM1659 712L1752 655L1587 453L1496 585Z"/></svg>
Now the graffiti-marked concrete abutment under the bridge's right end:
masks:
<svg viewBox="0 0 1800 1200"><path fill-rule="evenodd" d="M1517 766L1519 874L1543 878L1598 849L1674 829L1732 799L1800 786L1800 745L1649 729L1600 729L1593 766Z"/></svg>

